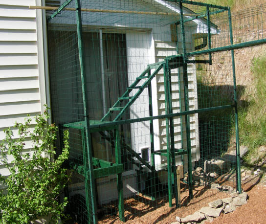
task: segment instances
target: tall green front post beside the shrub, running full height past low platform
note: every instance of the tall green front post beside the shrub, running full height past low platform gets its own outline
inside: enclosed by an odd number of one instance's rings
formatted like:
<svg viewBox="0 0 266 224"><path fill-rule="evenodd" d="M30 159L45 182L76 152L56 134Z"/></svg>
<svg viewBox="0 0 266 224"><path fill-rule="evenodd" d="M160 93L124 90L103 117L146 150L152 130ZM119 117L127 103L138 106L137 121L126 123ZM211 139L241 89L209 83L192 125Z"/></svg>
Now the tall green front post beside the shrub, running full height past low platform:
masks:
<svg viewBox="0 0 266 224"><path fill-rule="evenodd" d="M93 177L93 165L92 165L92 146L91 137L89 132L89 114L88 114L88 100L86 95L86 75L85 75L85 63L83 56L83 44L82 44L82 19L80 11L80 0L76 0L76 20L77 20L77 36L78 36L78 47L79 47L79 62L80 62L80 74L81 74L81 84L82 84L82 98L84 107L84 119L86 123L85 134L86 134L86 145L87 145L87 155L88 155L88 173L90 181L90 194L91 194L91 210L93 217L93 224L97 224L97 207L96 207L96 197L95 197L95 185ZM89 214L89 208L88 214Z"/></svg>

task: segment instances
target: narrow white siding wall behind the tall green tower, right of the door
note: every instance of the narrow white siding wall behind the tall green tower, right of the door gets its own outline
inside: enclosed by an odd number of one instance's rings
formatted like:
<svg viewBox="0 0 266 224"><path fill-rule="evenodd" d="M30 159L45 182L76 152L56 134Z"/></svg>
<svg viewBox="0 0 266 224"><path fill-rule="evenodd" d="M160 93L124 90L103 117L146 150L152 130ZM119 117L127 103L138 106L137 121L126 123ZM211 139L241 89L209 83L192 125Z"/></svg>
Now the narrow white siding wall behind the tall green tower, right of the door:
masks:
<svg viewBox="0 0 266 224"><path fill-rule="evenodd" d="M192 50L192 41L190 38L186 38L186 48L188 51ZM179 52L182 50L181 42L178 43ZM171 41L155 41L155 62L162 61L166 56L171 56L177 54L176 43ZM183 94L183 72L182 67L180 67L180 84L181 84L181 102L182 111L184 108L184 94ZM178 87L178 70L171 70L171 81L172 81L172 106L173 112L180 112L180 98L179 98L179 87ZM164 78L163 69L160 70L159 74L156 76L157 85L157 105L158 105L158 115L165 114L165 94L164 94ZM193 64L188 64L188 89L189 89L189 110L198 109L198 99L197 99L197 79L196 79L196 68ZM155 150L166 149L166 121L165 119L159 119L158 122L158 136L159 136L159 147ZM190 137L191 137L191 149L192 149L192 161L199 159L199 130L198 130L198 114L190 115ZM174 141L175 148L181 148L181 122L180 117L174 118ZM155 139L156 141L156 139ZM157 139L158 141L158 139ZM185 121L183 117L183 147L186 149L186 132L185 132ZM159 163L167 162L166 157L158 157L155 159L157 165ZM181 163L180 156L177 157L177 165ZM184 163L186 165L186 157L184 157ZM186 167L185 167L186 169Z"/></svg>

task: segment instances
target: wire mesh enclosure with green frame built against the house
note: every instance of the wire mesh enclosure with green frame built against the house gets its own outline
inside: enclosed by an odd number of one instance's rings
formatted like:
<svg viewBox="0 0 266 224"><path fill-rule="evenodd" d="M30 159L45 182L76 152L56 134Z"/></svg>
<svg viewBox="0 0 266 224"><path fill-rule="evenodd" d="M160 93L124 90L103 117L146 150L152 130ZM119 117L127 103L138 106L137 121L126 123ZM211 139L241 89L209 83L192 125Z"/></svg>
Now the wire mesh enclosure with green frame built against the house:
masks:
<svg viewBox="0 0 266 224"><path fill-rule="evenodd" d="M152 223L204 192L240 191L230 50L265 43L265 6L232 15L186 0L64 7L49 19L48 51L58 153L64 129L70 139L66 222Z"/></svg>

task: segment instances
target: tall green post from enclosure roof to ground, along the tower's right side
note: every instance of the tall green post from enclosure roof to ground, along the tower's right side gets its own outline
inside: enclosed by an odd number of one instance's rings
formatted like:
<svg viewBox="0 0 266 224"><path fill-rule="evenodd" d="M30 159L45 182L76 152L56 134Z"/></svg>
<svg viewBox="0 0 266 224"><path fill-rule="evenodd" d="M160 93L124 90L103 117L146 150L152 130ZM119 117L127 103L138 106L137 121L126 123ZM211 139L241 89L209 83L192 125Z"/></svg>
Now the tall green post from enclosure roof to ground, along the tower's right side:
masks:
<svg viewBox="0 0 266 224"><path fill-rule="evenodd" d="M185 28L183 23L183 7L182 0L179 0L180 5L180 20L181 20L181 32L182 32L182 45L183 45L183 78L184 78L184 100L185 100L185 111L189 111L188 105L188 77L187 77L187 55L186 55L186 44L185 44ZM192 158L191 158L191 140L190 140L190 118L189 115L185 115L186 122L186 136L187 136L187 164L188 164L188 190L190 199L193 198L192 189Z"/></svg>

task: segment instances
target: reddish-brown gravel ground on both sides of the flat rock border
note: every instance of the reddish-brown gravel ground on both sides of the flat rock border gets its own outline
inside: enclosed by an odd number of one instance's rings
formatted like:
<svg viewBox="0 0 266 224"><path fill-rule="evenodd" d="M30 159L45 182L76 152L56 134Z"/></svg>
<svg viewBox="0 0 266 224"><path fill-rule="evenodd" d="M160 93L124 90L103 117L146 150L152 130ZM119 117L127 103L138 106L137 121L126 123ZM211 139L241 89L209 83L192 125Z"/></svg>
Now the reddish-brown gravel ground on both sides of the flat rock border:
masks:
<svg viewBox="0 0 266 224"><path fill-rule="evenodd" d="M217 182L220 182L217 180ZM222 181L231 185L231 181ZM235 181L234 181L235 182ZM221 183L221 182L220 182ZM247 192L249 200L247 204L238 207L235 212L221 214L212 223L266 223L266 182L260 183L259 177L247 179L242 187ZM229 197L228 193L215 189L207 189L199 186L193 190L194 198L189 201L188 191L181 189L181 207L169 208L166 200L156 201L156 208L143 200L145 197L129 199L125 201L126 223L132 224L170 224L176 222L176 216L185 217L198 211L201 207L208 206L209 202ZM174 200L173 200L174 203ZM98 223L121 224L118 217L104 217ZM207 222L205 222L207 223Z"/></svg>

